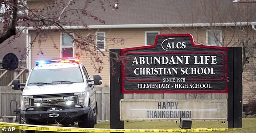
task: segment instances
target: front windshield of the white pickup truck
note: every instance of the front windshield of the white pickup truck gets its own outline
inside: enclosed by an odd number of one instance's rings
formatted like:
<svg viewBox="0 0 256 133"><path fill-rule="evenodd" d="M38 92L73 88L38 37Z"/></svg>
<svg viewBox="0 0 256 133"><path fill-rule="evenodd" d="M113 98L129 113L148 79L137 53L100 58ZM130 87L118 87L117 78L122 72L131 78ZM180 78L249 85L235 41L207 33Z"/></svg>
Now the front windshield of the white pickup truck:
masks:
<svg viewBox="0 0 256 133"><path fill-rule="evenodd" d="M78 67L33 70L28 85L71 84L74 82L83 82L83 76Z"/></svg>

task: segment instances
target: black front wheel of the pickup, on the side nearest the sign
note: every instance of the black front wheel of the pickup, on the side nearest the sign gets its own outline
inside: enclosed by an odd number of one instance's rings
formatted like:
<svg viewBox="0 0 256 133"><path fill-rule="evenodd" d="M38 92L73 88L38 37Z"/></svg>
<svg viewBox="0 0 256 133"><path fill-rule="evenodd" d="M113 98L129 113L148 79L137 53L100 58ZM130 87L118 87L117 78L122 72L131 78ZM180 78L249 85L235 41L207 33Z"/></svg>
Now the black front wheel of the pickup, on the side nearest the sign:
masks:
<svg viewBox="0 0 256 133"><path fill-rule="evenodd" d="M89 110L87 114L83 115L83 122L78 122L78 127L81 128L93 128L94 127L94 112L91 109L91 106L89 106Z"/></svg>

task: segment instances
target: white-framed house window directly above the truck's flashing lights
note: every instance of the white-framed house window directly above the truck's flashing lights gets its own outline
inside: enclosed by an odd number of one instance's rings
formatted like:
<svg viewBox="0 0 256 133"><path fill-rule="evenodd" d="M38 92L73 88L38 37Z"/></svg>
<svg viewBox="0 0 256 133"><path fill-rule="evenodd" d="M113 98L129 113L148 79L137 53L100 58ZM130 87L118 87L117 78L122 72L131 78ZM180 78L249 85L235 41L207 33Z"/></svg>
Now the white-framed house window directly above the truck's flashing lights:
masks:
<svg viewBox="0 0 256 133"><path fill-rule="evenodd" d="M61 57L73 57L74 56L74 42L73 38L67 34L62 34L61 44ZM73 35L74 36L74 35Z"/></svg>

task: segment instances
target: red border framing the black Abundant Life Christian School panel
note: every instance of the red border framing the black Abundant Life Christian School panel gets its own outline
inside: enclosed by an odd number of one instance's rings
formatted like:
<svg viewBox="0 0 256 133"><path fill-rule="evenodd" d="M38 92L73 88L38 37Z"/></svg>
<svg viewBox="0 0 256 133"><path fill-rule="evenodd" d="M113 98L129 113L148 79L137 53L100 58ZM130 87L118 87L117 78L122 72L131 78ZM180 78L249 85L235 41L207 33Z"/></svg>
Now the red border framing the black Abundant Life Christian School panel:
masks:
<svg viewBox="0 0 256 133"><path fill-rule="evenodd" d="M191 34L161 34L161 35L157 35L156 39L155 39L155 43L154 45L150 45L150 46L142 46L142 47L132 47L132 48L124 48L121 49L121 56L122 58L124 57L124 52L125 51L131 51L131 50L139 50L139 49L146 49L146 48L153 48L153 47L157 47L157 39L159 37L177 37L177 36L182 36L182 37L190 37L190 41L192 44L192 47L202 47L202 48L211 48L211 49L222 49L224 51L226 51L226 61L227 61L227 47L219 47L219 46L208 46L208 45L198 45L198 44L194 44L194 39L193 36ZM159 52L160 53L160 52ZM165 52L162 52L165 53ZM169 52L172 53L172 52ZM127 53L128 54L128 53ZM126 54L126 55L127 55ZM225 59L225 57L223 57ZM225 63L224 63L225 66ZM227 65L226 65L226 72L227 72ZM225 70L225 68L224 68ZM224 71L223 70L223 71ZM227 73L226 73L227 74ZM227 74L228 75L228 74ZM228 82L228 77L226 76L226 82ZM121 63L121 87L122 87L122 93L227 93L228 92L228 83L227 83L227 87L225 90L204 90L204 91L197 91L197 90L189 90L189 91L181 91L181 90L170 90L170 91L127 91L124 89L124 65L123 63Z"/></svg>

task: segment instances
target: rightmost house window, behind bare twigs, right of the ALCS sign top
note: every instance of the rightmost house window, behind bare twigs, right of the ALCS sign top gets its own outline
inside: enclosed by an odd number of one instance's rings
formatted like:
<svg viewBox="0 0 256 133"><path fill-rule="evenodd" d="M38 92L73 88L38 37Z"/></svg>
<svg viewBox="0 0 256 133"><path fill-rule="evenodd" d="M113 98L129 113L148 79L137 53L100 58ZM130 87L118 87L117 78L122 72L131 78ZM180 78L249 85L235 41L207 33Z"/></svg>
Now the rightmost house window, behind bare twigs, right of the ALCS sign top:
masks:
<svg viewBox="0 0 256 133"><path fill-rule="evenodd" d="M206 42L211 46L221 46L221 30L207 30Z"/></svg>

